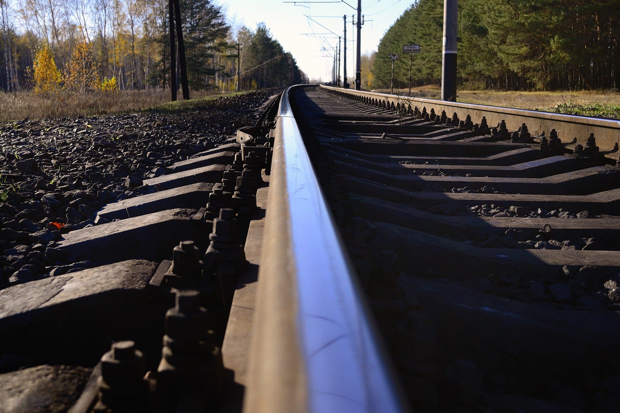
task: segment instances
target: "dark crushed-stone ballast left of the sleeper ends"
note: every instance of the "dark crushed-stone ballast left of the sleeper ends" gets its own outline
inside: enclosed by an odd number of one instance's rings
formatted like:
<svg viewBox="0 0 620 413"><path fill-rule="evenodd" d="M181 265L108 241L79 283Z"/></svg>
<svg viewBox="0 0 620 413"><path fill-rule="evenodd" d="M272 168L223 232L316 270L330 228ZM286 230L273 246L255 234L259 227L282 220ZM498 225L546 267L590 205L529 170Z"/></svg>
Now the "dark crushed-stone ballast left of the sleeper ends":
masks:
<svg viewBox="0 0 620 413"><path fill-rule="evenodd" d="M0 125L2 175L10 177L0 183L0 192L9 192L0 202L0 252L19 245L32 252L37 245L45 253L63 234L94 225L95 211L103 205L157 192L143 180L166 175L175 162L226 143L237 128L255 124L253 110L281 90L221 97L187 112L151 110ZM0 288L23 266L4 255ZM46 258L37 263L46 274L72 263L67 255ZM29 279L25 274L15 275L12 283Z"/></svg>

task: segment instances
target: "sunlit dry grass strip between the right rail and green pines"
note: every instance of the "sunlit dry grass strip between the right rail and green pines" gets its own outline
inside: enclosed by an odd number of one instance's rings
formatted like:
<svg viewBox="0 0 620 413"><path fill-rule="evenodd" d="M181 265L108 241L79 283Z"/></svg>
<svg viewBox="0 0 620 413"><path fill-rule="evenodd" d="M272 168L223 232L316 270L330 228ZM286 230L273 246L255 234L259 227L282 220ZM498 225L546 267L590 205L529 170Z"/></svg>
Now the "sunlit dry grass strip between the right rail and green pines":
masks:
<svg viewBox="0 0 620 413"><path fill-rule="evenodd" d="M389 93L389 89L375 92ZM411 89L414 97L441 99L441 87L423 86ZM409 94L409 89L394 89L394 94ZM611 91L578 92L511 92L511 91L458 91L458 102L513 107L516 109L545 110L586 116L618 118L620 93Z"/></svg>

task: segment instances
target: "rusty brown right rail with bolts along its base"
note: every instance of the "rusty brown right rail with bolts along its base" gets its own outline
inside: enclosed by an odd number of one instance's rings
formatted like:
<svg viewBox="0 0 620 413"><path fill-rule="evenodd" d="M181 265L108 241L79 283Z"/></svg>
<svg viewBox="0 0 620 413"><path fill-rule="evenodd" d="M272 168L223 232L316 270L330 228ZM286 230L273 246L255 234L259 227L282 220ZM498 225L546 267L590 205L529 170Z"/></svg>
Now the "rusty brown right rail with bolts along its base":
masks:
<svg viewBox="0 0 620 413"><path fill-rule="evenodd" d="M475 105L461 102L448 102L446 100L422 99L420 97L407 97L390 95L384 93L355 91L352 89L343 89L342 87L321 85L323 89L335 92L337 94L356 100L378 100L386 105L417 105L427 106L435 109L438 115L441 110L445 110L448 118L456 112L459 118L464 119L467 115L471 116L474 123L480 123L482 117L487 118L489 127L493 127L500 120L505 120L508 130L517 130L521 123L528 126L529 131L533 135L545 131L547 137L552 129L556 129L557 136L565 147L573 149L575 144L585 146L590 133L594 133L596 144L606 158L620 160L620 121L613 119L593 118L577 115L564 115L562 113L539 112L538 110L513 109L506 107L497 107L489 105Z"/></svg>

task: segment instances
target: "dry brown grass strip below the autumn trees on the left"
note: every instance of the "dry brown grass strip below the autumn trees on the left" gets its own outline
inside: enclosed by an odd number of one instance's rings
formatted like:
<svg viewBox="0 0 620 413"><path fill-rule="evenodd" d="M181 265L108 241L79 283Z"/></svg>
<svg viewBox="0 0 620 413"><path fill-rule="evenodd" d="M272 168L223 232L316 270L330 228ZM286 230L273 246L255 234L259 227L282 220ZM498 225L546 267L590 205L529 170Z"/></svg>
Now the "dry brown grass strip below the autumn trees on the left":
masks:
<svg viewBox="0 0 620 413"><path fill-rule="evenodd" d="M218 97L212 91L190 91L193 99ZM180 93L179 93L179 99ZM92 92L57 95L37 95L33 92L0 92L0 122L23 118L45 119L136 112L170 102L169 89L149 91Z"/></svg>

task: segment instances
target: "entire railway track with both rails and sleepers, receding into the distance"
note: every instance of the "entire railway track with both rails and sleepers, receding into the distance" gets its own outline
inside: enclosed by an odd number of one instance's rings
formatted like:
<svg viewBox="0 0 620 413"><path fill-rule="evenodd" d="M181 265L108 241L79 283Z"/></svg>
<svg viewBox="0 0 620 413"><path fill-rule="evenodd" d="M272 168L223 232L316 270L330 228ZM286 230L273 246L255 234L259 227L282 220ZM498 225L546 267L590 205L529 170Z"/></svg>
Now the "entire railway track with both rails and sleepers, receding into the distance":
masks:
<svg viewBox="0 0 620 413"><path fill-rule="evenodd" d="M618 410L618 122L261 111L48 248L99 267L0 291L0 412Z"/></svg>

